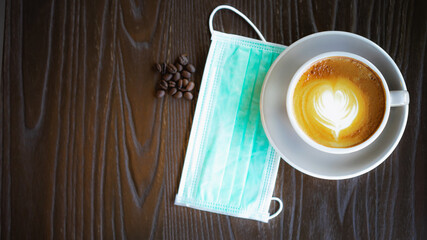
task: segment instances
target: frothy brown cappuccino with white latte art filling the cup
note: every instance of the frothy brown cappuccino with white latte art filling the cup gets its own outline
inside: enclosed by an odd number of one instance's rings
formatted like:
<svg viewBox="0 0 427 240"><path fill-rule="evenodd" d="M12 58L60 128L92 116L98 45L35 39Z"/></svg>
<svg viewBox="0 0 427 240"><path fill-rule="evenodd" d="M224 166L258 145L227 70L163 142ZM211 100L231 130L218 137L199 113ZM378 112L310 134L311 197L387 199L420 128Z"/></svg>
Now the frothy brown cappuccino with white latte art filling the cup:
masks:
<svg viewBox="0 0 427 240"><path fill-rule="evenodd" d="M313 141L348 148L378 129L386 111L386 93L380 77L364 63L326 57L301 75L293 108L298 125Z"/></svg>

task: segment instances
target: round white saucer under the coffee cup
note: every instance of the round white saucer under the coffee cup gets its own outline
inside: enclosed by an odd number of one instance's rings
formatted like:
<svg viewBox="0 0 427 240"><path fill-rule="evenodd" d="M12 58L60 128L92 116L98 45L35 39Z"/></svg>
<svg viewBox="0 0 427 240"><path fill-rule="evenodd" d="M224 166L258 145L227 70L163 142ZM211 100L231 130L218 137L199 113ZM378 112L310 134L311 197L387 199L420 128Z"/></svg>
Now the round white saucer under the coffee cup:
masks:
<svg viewBox="0 0 427 240"><path fill-rule="evenodd" d="M304 62L329 51L345 51L366 58L384 75L390 90L406 90L399 68L372 41L347 32L315 33L289 46L270 67L261 92L261 120L270 143L291 166L313 177L346 179L374 169L393 152L405 130L409 106L391 108L382 134L360 151L337 155L307 145L289 122L286 91L293 74Z"/></svg>

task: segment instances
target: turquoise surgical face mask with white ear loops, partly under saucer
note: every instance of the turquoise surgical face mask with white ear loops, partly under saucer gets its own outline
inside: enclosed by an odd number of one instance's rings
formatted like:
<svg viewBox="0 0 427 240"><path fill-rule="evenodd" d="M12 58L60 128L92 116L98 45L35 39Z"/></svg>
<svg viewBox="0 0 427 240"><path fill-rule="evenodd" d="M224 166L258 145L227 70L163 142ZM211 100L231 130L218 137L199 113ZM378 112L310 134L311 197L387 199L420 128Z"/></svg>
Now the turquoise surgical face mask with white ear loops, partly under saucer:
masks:
<svg viewBox="0 0 427 240"><path fill-rule="evenodd" d="M262 39L213 30L220 9L243 17ZM268 222L282 209L272 197L280 158L260 119L264 77L285 46L268 43L253 23L230 6L209 18L212 43L202 78L175 204ZM270 216L270 202L279 210Z"/></svg>

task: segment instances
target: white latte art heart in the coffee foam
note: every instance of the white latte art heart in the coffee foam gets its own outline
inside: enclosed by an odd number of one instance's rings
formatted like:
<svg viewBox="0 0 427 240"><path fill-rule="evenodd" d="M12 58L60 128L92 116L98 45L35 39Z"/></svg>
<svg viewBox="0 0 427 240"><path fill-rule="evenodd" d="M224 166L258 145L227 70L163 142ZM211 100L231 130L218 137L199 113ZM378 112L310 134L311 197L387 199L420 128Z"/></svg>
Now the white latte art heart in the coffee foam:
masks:
<svg viewBox="0 0 427 240"><path fill-rule="evenodd" d="M350 95L349 95L350 94ZM324 89L313 99L316 120L331 129L336 139L340 131L348 128L357 117L359 105L352 92Z"/></svg>

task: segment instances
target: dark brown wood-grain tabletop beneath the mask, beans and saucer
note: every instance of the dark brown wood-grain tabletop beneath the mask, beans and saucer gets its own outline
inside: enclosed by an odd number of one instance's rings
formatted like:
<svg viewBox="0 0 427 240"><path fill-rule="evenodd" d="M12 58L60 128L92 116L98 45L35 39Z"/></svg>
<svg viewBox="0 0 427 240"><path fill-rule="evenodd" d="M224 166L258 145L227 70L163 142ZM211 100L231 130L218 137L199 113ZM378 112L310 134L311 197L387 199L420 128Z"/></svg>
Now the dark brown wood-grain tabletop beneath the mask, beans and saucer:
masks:
<svg viewBox="0 0 427 240"><path fill-rule="evenodd" d="M343 181L282 161L284 211L268 224L175 206L196 101L154 98L152 64L189 53L197 92L223 3L271 42L343 30L384 48L411 95L393 154ZM0 238L427 239L426 12L424 0L6 0ZM256 37L228 11L215 27Z"/></svg>

